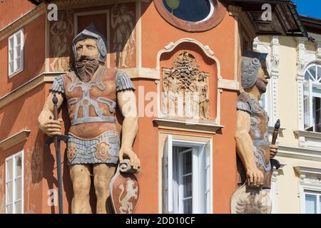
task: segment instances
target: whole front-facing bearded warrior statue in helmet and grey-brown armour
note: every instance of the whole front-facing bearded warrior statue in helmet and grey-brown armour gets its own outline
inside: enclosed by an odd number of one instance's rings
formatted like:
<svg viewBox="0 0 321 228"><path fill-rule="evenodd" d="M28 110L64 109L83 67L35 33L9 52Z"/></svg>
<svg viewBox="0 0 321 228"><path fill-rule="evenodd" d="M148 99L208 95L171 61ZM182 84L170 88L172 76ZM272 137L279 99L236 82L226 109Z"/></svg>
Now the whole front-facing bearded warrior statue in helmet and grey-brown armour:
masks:
<svg viewBox="0 0 321 228"><path fill-rule="evenodd" d="M123 71L105 68L106 39L91 24L73 38L75 70L58 76L51 86L39 126L47 135L61 135L61 119L52 120L53 94L58 109L68 105L68 167L73 184L72 213L91 213L91 175L97 198L97 213L111 213L109 182L116 164L130 159L133 170L140 160L132 150L138 130L135 87ZM116 107L124 117L122 130ZM125 107L126 106L126 107ZM120 134L122 138L120 138Z"/></svg>

